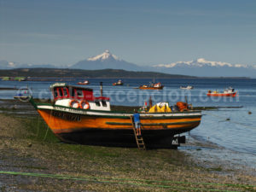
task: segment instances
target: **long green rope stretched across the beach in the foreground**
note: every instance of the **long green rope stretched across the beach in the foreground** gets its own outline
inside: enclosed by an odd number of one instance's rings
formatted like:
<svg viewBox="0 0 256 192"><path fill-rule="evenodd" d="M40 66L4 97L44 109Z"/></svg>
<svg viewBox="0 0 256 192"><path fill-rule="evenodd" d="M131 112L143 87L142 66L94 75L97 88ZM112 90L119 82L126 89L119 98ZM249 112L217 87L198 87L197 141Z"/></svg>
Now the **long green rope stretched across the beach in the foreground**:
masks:
<svg viewBox="0 0 256 192"><path fill-rule="evenodd" d="M6 175L20 175L20 176L28 176L28 177L49 177L56 179L70 179L77 181L86 181L86 182L96 182L96 183L115 183L115 184L128 184L128 185L137 185L144 187L159 187L159 188L172 188L172 189L189 189L189 190L200 190L200 191L226 191L230 192L230 190L225 189L207 189L205 186L201 188L197 187L183 187L183 186L172 186L172 185L164 185L160 183L171 183L171 184L194 184L194 185L208 185L208 186L223 186L223 187L235 187L235 188L255 188L256 185L252 184L232 184L232 183L190 183L190 182L175 182L175 181L160 181L160 180L147 180L147 179L130 179L130 178L113 178L113 177L90 177L90 176L78 176L73 177L70 175L59 175L59 174L46 174L46 173L36 173L36 172L5 172L0 171L0 174ZM116 181L114 181L116 180ZM119 182L121 181L121 182ZM137 182L137 183L130 183ZM140 183L138 183L140 182ZM143 183L144 182L144 183ZM152 184L159 183L159 184Z"/></svg>

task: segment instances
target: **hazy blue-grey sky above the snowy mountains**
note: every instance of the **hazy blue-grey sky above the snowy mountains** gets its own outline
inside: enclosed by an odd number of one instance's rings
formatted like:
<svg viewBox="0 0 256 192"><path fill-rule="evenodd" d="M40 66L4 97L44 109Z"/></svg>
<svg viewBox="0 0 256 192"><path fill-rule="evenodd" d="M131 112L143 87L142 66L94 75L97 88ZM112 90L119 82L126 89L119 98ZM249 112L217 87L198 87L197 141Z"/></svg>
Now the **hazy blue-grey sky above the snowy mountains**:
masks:
<svg viewBox="0 0 256 192"><path fill-rule="evenodd" d="M0 0L0 60L72 65L105 49L138 65L256 65L256 1Z"/></svg>

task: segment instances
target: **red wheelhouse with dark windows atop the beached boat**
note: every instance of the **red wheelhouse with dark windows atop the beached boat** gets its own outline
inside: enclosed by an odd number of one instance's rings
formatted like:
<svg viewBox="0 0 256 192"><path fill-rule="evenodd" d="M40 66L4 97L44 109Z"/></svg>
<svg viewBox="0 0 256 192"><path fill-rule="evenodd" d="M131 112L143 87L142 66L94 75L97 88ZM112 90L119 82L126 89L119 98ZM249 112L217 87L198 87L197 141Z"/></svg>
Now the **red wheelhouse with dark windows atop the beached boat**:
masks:
<svg viewBox="0 0 256 192"><path fill-rule="evenodd" d="M67 85L65 83L52 84L50 90L55 100L78 99L86 101L109 101L109 97L93 96L93 90L90 88Z"/></svg>

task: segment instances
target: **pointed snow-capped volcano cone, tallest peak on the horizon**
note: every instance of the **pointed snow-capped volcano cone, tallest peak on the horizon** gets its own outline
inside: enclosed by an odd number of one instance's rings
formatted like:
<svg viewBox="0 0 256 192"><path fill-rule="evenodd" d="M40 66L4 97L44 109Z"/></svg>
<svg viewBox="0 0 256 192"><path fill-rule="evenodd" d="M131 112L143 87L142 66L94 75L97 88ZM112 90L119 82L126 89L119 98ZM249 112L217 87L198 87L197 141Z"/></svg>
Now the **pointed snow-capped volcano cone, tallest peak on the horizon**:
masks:
<svg viewBox="0 0 256 192"><path fill-rule="evenodd" d="M104 53L89 57L86 60L79 61L74 64L71 68L95 70L95 69L124 69L130 71L146 70L144 67L139 67L136 64L119 59L118 56L111 54L107 49Z"/></svg>

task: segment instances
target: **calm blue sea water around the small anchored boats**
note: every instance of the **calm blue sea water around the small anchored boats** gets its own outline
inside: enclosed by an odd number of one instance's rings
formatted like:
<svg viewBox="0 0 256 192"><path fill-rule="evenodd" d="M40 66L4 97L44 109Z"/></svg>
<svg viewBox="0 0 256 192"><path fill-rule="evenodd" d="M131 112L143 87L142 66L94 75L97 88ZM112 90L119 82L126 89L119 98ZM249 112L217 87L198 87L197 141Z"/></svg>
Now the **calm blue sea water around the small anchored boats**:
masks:
<svg viewBox="0 0 256 192"><path fill-rule="evenodd" d="M70 80L76 84L84 79ZM103 82L103 94L109 96L114 105L137 106L148 101L169 102L188 100L194 106L242 107L220 108L218 111L203 111L201 125L191 131L191 135L200 140L210 140L218 146L235 151L238 158L249 158L256 162L256 79L155 79L165 85L163 90L134 89L142 84L149 84L152 79L123 79L124 86L113 86L118 79L89 79L86 87L94 89L100 95L99 83ZM49 85L53 81L0 81L0 87L30 87L33 96L49 98ZM181 85L192 85L194 90L180 90ZM235 98L207 97L207 90L224 90L232 86L238 92ZM16 90L0 90L1 99L12 99ZM248 112L251 112L249 114ZM227 120L228 119L228 120ZM254 160L254 161L253 161ZM251 163L253 167L255 164Z"/></svg>

